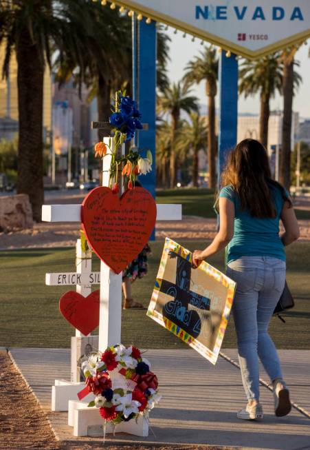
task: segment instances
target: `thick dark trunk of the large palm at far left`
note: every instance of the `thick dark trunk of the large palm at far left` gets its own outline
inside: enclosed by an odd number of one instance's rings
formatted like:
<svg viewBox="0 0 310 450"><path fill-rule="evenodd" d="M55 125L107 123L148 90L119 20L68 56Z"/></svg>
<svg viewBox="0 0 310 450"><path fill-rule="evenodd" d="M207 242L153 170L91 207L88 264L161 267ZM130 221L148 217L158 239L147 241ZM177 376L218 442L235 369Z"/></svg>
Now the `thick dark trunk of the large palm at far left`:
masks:
<svg viewBox="0 0 310 450"><path fill-rule="evenodd" d="M28 194L35 221L41 221L43 187L44 57L27 26L16 44L19 104L17 193Z"/></svg>

